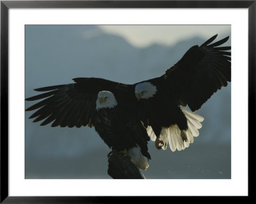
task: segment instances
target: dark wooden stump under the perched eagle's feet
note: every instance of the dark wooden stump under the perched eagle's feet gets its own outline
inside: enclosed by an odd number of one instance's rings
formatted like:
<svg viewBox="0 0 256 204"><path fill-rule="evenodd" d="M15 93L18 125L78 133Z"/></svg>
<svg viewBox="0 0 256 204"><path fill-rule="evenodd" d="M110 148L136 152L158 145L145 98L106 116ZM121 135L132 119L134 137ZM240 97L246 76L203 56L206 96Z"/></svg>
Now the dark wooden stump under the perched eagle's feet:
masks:
<svg viewBox="0 0 256 204"><path fill-rule="evenodd" d="M129 157L115 150L108 159L108 175L114 179L145 179L143 173Z"/></svg>

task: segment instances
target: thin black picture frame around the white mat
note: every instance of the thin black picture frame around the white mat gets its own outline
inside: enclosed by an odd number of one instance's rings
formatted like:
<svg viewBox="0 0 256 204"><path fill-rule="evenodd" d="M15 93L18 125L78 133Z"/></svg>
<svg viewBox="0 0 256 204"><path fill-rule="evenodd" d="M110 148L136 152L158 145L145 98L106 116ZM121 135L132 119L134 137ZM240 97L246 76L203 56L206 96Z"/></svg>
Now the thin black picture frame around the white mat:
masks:
<svg viewBox="0 0 256 204"><path fill-rule="evenodd" d="M9 196L8 11L10 8L248 8L248 130L255 119L256 1L1 1L1 203L123 203L123 197ZM246 136L244 136L246 137ZM249 137L250 139L250 137ZM250 142L249 142L250 143ZM248 180L249 182L249 180ZM249 192L248 192L249 194ZM133 197L125 198L130 201ZM167 197L168 198L168 197ZM136 198L136 201L146 201ZM150 198L151 200L151 198Z"/></svg>

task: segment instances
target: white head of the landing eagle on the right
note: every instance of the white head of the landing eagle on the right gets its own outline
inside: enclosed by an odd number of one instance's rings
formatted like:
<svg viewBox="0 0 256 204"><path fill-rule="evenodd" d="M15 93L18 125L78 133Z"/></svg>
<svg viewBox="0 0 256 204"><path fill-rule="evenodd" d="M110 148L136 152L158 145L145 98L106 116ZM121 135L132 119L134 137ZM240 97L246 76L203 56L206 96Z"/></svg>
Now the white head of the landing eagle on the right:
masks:
<svg viewBox="0 0 256 204"><path fill-rule="evenodd" d="M140 100L140 98L147 99L153 97L156 94L156 92L156 86L154 86L150 82L142 82L135 86L135 95L136 98L138 98L138 100Z"/></svg>

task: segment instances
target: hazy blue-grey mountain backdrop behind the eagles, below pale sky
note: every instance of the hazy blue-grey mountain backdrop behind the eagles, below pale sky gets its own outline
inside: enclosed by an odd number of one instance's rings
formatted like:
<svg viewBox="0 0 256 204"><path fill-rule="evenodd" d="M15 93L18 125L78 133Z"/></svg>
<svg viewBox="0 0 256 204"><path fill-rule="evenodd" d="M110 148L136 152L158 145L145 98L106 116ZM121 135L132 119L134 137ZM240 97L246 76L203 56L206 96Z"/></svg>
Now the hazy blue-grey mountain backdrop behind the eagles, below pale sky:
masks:
<svg viewBox="0 0 256 204"><path fill-rule="evenodd" d="M141 49L120 36L107 35L97 26L26 26L26 97L35 95L35 88L67 84L75 77L102 77L124 83L157 77L191 46L205 40L195 37L174 46L153 44ZM150 142L152 160L147 177L230 178L230 85L215 93L196 112L205 120L200 136L188 149L174 153L169 149L157 151ZM32 104L26 102L26 107ZM41 127L28 119L31 114L26 113L25 118L26 178L110 178L106 156L110 150L93 128ZM196 162L198 158L207 160L209 167ZM166 161L170 161L170 166L174 164L176 173L170 173L173 170L164 164ZM178 164L185 168L179 171ZM170 172L161 172L163 165ZM188 166L193 166L193 171Z"/></svg>

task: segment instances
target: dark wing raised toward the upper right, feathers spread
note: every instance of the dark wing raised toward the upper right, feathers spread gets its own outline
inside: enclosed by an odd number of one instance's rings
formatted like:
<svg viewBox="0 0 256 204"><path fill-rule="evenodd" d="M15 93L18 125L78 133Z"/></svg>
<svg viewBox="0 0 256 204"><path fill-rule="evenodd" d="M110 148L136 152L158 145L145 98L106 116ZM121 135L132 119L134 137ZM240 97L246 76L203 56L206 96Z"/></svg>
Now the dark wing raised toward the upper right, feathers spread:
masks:
<svg viewBox="0 0 256 204"><path fill-rule="evenodd" d="M212 36L202 45L191 47L165 74L153 80L164 84L164 93L179 105L200 109L216 91L231 81L231 47L219 47L228 38L212 43Z"/></svg>

